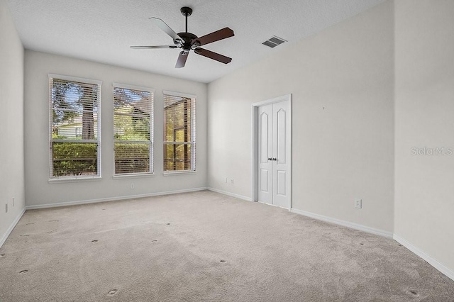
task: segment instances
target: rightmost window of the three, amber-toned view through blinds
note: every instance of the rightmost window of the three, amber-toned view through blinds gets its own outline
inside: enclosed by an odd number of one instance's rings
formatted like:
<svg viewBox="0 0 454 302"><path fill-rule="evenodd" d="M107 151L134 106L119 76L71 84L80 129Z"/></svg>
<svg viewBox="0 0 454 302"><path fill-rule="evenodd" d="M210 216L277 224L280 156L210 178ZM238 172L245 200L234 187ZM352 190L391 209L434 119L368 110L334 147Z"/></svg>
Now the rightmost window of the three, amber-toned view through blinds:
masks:
<svg viewBox="0 0 454 302"><path fill-rule="evenodd" d="M195 96L164 91L164 171L195 170Z"/></svg>

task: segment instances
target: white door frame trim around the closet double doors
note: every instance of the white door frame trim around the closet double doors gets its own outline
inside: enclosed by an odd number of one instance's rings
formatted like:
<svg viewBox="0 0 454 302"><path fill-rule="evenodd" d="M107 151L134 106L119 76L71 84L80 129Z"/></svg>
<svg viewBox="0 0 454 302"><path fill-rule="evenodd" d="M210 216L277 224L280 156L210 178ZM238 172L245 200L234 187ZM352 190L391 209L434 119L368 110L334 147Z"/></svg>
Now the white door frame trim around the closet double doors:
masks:
<svg viewBox="0 0 454 302"><path fill-rule="evenodd" d="M253 174L253 181L252 181L252 201L258 201L258 108L260 106L275 104L282 101L289 101L289 137L290 137L290 158L289 158L289 181L290 181L290 191L289 191L289 211L292 209L292 94L285 94L284 96L277 96L274 99L268 99L266 101L259 101L257 103L252 104L252 174Z"/></svg>

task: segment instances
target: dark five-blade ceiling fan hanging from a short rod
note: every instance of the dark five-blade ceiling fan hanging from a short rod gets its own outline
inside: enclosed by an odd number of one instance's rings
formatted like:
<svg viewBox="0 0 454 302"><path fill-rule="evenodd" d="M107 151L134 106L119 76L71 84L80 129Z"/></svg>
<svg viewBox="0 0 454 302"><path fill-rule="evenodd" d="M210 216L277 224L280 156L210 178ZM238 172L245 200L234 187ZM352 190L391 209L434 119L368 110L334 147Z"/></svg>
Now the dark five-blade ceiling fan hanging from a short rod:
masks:
<svg viewBox="0 0 454 302"><path fill-rule="evenodd" d="M155 25L164 30L164 32L167 33L167 35L170 35L175 45L131 46L131 48L133 49L182 48L182 52L179 52L179 57L177 60L177 64L175 65L175 68L184 67L190 50L194 50L194 52L197 55L203 55L204 57L209 57L210 59L222 62L224 64L230 63L232 60L231 57L220 55L216 52L206 50L199 46L233 37L233 35L235 35L233 33L233 30L226 27L198 38L196 35L194 35L194 33L188 33L187 31L187 17L191 16L192 9L190 7L184 6L182 7L182 9L180 9L180 11L182 12L182 15L186 17L186 31L184 33L175 33L175 31L172 30L172 28L170 28L169 26L167 26L167 24L160 18L155 17L150 18L151 21L155 23Z"/></svg>

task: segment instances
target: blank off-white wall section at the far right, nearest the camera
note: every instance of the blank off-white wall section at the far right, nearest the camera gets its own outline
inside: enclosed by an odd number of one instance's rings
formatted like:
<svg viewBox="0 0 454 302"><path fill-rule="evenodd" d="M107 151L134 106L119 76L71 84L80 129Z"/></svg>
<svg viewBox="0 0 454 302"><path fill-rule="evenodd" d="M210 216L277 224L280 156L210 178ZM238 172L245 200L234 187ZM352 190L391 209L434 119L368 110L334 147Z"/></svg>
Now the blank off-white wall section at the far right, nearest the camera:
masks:
<svg viewBox="0 0 454 302"><path fill-rule="evenodd" d="M454 1L395 1L394 233L454 278ZM424 151L421 151L424 152Z"/></svg>

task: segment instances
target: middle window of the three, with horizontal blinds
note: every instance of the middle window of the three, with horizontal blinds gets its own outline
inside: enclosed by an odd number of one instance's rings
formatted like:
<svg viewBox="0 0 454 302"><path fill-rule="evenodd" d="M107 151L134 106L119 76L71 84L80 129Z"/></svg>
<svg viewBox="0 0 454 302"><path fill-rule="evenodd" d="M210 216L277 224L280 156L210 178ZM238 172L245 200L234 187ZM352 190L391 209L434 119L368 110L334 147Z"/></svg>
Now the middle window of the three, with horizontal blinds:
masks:
<svg viewBox="0 0 454 302"><path fill-rule="evenodd" d="M114 84L115 174L153 173L153 91Z"/></svg>

